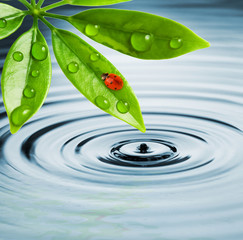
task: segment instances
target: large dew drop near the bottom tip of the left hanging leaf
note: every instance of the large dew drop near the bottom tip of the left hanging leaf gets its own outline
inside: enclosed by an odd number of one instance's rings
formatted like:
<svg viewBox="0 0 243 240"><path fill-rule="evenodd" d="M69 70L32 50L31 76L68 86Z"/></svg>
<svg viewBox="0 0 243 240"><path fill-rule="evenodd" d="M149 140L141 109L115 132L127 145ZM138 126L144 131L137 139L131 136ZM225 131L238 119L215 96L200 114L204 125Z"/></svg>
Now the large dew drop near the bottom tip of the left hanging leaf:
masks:
<svg viewBox="0 0 243 240"><path fill-rule="evenodd" d="M29 106L19 106L11 113L11 121L14 125L20 126L29 118L30 114L31 109Z"/></svg>

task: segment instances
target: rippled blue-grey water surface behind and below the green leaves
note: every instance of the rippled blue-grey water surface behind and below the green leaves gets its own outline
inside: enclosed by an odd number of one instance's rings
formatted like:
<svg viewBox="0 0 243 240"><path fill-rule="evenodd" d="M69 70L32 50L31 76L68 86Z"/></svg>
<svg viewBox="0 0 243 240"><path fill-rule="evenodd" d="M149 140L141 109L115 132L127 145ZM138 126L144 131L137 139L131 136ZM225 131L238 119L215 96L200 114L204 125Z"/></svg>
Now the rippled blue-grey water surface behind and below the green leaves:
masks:
<svg viewBox="0 0 243 240"><path fill-rule="evenodd" d="M146 133L89 103L53 54L46 103L15 135L1 100L0 239L242 240L242 1L134 0L116 7L171 18L212 46L144 61L84 37L126 76ZM27 19L0 41L1 69L15 37L30 26Z"/></svg>

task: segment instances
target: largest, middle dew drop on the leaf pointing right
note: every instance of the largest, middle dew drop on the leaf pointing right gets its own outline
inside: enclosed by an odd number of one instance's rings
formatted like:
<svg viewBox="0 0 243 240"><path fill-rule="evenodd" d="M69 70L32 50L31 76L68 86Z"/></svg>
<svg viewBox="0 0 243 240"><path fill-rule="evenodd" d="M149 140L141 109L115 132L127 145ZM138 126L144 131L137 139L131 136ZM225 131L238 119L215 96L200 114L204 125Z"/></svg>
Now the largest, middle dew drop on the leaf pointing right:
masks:
<svg viewBox="0 0 243 240"><path fill-rule="evenodd" d="M151 48L152 36L147 33L135 32L131 36L132 47L138 52L145 52Z"/></svg>

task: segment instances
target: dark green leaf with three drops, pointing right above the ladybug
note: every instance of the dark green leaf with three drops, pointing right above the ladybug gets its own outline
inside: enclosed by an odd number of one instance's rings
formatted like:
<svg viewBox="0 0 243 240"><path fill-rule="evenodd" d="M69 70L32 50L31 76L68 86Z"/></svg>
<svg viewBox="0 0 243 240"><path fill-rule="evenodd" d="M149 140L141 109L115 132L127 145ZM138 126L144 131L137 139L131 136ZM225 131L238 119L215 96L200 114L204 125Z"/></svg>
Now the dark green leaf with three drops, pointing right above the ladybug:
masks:
<svg viewBox="0 0 243 240"><path fill-rule="evenodd" d="M182 24L149 13L91 9L68 21L96 42L141 59L168 59L210 46Z"/></svg>

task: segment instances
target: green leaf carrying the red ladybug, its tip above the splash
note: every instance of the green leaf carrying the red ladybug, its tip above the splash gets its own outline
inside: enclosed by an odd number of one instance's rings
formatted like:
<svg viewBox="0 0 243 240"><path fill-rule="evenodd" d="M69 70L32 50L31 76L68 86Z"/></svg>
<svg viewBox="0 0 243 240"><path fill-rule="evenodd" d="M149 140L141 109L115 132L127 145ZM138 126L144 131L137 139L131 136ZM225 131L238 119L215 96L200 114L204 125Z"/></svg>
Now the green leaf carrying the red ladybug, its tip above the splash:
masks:
<svg viewBox="0 0 243 240"><path fill-rule="evenodd" d="M137 98L121 73L99 52L73 33L52 30L53 49L62 71L72 84L103 111L145 132ZM114 73L124 86L115 91L106 87L103 73Z"/></svg>

